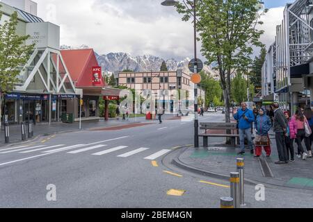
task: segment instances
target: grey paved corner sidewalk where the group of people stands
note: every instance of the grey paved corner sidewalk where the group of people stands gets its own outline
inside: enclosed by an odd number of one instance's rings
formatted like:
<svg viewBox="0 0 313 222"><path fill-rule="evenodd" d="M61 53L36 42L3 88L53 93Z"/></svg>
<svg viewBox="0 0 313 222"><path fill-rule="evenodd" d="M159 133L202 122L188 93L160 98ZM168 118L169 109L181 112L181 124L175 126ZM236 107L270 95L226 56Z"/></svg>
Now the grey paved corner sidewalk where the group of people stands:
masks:
<svg viewBox="0 0 313 222"><path fill-rule="evenodd" d="M261 183L313 190L313 159L302 160L295 157L295 162L275 164L275 161L278 160L278 152L274 136L270 135L270 138L271 157L266 157L263 151L262 156L256 158L248 150L246 150L246 155L237 155L239 147L211 144L209 148L184 147L173 163L197 173L228 179L230 172L236 171L236 158L243 157L245 159L245 178L250 184ZM200 142L200 144L202 143ZM296 147L295 144L295 151Z"/></svg>

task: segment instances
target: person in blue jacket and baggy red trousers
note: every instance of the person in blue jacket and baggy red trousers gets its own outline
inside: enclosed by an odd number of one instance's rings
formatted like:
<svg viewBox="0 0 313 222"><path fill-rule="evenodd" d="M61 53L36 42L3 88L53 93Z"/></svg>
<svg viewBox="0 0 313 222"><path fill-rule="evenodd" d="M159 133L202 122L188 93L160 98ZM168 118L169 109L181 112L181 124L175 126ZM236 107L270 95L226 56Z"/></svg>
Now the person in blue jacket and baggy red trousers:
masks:
<svg viewBox="0 0 313 222"><path fill-rule="evenodd" d="M271 119L265 114L263 108L259 109L259 114L255 118L255 157L262 155L262 146L266 152L266 157L271 155L271 141L268 131L271 130Z"/></svg>

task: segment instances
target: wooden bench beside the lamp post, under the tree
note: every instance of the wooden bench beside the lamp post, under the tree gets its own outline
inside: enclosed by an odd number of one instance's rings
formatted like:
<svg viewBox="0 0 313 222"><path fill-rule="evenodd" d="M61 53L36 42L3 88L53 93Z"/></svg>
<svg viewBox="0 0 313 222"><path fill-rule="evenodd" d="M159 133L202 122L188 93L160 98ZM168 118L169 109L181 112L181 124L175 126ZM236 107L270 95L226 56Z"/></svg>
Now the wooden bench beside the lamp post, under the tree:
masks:
<svg viewBox="0 0 313 222"><path fill-rule="evenodd" d="M204 130L204 133L199 133L199 137L203 137L203 146L208 146L207 137L228 137L231 139L231 144L235 146L236 138L239 139L239 130L236 125L236 123L200 123L200 130ZM207 130L225 130L225 133L207 133ZM226 134L226 130L231 130L232 134Z"/></svg>

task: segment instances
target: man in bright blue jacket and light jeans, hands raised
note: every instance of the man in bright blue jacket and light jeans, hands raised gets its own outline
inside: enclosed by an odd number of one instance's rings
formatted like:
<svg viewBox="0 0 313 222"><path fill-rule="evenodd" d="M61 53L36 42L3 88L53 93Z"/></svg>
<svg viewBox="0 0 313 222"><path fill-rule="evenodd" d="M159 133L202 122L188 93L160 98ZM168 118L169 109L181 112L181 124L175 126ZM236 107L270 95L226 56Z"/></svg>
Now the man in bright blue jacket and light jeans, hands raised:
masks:
<svg viewBox="0 0 313 222"><path fill-rule="evenodd" d="M247 108L246 103L241 103L241 109L234 113L234 119L239 122L239 138L240 138L240 148L241 151L239 155L245 154L245 135L248 139L248 145L250 148L250 153L253 154L253 142L251 137L251 124L255 121L255 116L252 110Z"/></svg>

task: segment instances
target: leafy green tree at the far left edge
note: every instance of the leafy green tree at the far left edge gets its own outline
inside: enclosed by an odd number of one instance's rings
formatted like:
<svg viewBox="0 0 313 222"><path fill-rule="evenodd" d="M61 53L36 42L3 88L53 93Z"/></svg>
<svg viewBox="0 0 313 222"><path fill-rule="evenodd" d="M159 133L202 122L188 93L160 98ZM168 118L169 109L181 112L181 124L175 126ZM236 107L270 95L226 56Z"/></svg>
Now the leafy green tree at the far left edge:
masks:
<svg viewBox="0 0 313 222"><path fill-rule="evenodd" d="M2 15L0 12L0 20ZM17 12L14 12L8 21L0 24L0 119L4 96L12 92L14 86L19 83L19 67L26 64L34 47L33 44L24 44L29 35L17 35L17 24Z"/></svg>

